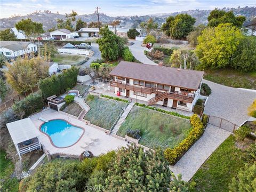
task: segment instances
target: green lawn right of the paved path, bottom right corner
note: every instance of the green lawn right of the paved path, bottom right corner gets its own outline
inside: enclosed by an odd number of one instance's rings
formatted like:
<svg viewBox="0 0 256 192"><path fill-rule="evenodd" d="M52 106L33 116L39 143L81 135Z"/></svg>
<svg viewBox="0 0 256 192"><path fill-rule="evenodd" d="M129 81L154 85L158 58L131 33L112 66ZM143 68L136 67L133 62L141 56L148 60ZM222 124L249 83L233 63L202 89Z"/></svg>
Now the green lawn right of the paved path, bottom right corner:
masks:
<svg viewBox="0 0 256 192"><path fill-rule="evenodd" d="M244 167L243 155L230 135L192 178L197 183L196 191L228 191L231 179Z"/></svg>

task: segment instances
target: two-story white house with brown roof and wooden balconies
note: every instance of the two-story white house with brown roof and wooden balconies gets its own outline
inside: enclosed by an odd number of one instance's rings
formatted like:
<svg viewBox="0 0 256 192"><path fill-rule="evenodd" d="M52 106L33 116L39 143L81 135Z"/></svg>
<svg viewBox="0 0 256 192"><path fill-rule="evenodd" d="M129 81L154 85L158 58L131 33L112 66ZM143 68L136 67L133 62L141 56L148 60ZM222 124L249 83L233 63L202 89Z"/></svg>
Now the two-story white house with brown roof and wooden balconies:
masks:
<svg viewBox="0 0 256 192"><path fill-rule="evenodd" d="M192 111L199 97L203 71L121 61L110 82L122 96L174 109Z"/></svg>

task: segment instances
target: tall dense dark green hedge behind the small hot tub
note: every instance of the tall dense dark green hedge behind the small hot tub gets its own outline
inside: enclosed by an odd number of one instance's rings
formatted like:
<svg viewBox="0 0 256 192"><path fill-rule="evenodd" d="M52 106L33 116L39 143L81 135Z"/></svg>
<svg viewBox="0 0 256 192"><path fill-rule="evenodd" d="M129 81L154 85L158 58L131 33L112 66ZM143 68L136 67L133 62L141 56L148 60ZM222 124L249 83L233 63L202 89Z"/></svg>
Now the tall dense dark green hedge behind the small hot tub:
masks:
<svg viewBox="0 0 256 192"><path fill-rule="evenodd" d="M78 69L71 67L63 71L62 74L52 75L49 78L43 79L39 84L43 98L54 94L60 95L65 93L69 87L74 87L76 85L77 75Z"/></svg>

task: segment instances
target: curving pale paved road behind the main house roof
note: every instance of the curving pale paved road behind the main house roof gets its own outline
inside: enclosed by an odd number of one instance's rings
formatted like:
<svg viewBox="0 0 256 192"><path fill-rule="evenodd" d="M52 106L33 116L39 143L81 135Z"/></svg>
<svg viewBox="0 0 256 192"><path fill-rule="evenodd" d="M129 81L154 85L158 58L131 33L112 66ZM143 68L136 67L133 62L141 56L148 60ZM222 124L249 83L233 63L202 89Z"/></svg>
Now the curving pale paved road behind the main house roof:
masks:
<svg viewBox="0 0 256 192"><path fill-rule="evenodd" d="M142 42L140 42L140 41L130 41L130 42L134 43L129 48L130 48L133 56L137 60L139 60L142 63L148 64L148 65L157 65L157 63L148 59L147 56L144 54L144 47L141 46Z"/></svg>

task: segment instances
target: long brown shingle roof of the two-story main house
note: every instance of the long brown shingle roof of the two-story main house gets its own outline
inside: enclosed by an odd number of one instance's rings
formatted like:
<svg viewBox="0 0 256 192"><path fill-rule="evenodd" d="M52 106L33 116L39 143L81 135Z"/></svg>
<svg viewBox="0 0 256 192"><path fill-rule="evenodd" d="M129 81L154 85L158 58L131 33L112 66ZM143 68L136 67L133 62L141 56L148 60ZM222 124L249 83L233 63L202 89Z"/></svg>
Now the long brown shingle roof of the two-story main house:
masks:
<svg viewBox="0 0 256 192"><path fill-rule="evenodd" d="M204 71L121 61L110 75L197 90Z"/></svg>

